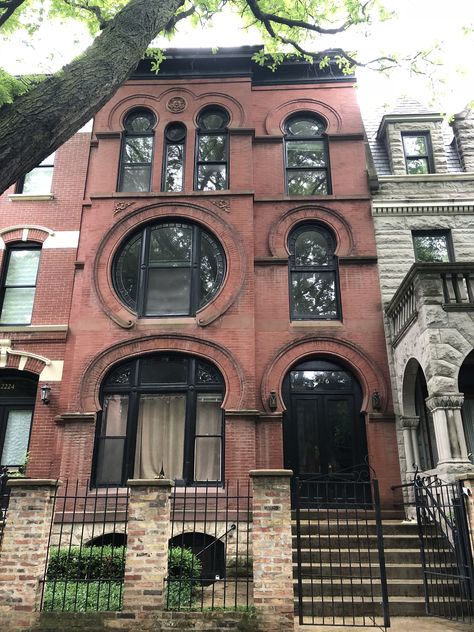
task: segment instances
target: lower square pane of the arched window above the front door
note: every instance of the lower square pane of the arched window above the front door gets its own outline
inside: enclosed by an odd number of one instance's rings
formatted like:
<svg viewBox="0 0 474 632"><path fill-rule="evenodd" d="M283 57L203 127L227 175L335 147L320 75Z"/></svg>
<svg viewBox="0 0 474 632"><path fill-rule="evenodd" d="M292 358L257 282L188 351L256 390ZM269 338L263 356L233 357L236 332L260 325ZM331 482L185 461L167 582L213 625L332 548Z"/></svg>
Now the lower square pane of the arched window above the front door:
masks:
<svg viewBox="0 0 474 632"><path fill-rule="evenodd" d="M293 272L291 305L295 318L336 318L336 284L333 272Z"/></svg>

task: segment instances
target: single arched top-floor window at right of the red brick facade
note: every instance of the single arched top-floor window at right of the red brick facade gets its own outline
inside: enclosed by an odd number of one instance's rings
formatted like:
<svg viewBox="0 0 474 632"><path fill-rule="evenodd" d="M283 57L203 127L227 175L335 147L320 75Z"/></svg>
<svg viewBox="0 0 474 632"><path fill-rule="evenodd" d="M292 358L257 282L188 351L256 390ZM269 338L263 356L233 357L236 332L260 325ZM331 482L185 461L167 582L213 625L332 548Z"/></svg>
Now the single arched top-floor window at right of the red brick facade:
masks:
<svg viewBox="0 0 474 632"><path fill-rule="evenodd" d="M331 192L326 125L313 114L296 114L285 123L288 195Z"/></svg>

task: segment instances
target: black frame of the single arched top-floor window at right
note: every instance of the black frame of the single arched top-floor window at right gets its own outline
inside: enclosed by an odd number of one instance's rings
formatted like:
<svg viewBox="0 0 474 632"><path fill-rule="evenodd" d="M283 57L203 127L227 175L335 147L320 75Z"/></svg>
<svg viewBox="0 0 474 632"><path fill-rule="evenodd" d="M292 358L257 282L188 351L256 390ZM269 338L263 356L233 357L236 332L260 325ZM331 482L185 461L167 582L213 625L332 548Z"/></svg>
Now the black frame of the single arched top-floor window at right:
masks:
<svg viewBox="0 0 474 632"><path fill-rule="evenodd" d="M294 123L295 121L297 121L298 119L300 120L312 120L314 122L316 122L319 125L322 125L324 128L324 131L321 132L320 134L312 134L312 135L308 135L308 136L299 136L299 135L294 135L291 134L291 131L289 130L289 127L292 123ZM285 133L285 137L284 137L284 150L285 150L285 193L286 195L289 195L291 197L301 197L301 198L305 198L305 197L312 197L312 196L326 196L326 195L331 195L332 194L332 182L331 182L331 165L330 165L330 160L329 160L329 143L328 143L328 136L327 136L327 124L326 121L324 121L324 119L322 119L320 116L313 114L312 112L298 112L296 114L292 114L291 116L289 116L284 123L283 126L284 129L284 133ZM325 156L325 161L326 161L326 166L325 167L291 167L288 165L288 145L289 143L294 143L294 142L308 142L308 141L321 141L323 143L323 147L324 147L324 156ZM292 172L296 172L296 171L313 171L315 173L325 173L326 178L325 178L325 182L326 182L326 192L325 193L310 193L308 195L306 194L295 194L295 193L290 193L289 191L289 175Z"/></svg>

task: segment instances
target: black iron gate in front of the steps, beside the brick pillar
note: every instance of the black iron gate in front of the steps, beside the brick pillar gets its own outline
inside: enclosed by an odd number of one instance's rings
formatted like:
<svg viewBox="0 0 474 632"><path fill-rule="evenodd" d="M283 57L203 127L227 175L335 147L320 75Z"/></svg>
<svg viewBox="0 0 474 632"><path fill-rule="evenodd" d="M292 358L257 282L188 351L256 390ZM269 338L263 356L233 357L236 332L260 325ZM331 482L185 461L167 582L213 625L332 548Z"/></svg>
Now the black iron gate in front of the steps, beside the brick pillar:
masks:
<svg viewBox="0 0 474 632"><path fill-rule="evenodd" d="M377 481L294 485L300 625L389 627Z"/></svg>

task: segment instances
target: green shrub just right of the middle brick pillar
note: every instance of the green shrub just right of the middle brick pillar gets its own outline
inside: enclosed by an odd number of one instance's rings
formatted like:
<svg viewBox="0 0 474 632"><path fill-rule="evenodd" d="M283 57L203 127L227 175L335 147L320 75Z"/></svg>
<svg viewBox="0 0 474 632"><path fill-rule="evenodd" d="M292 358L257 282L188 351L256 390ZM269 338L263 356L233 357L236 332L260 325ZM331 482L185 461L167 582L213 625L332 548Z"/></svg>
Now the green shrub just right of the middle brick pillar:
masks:
<svg viewBox="0 0 474 632"><path fill-rule="evenodd" d="M189 610L198 602L201 561L191 549L172 546L168 552L168 610Z"/></svg>

